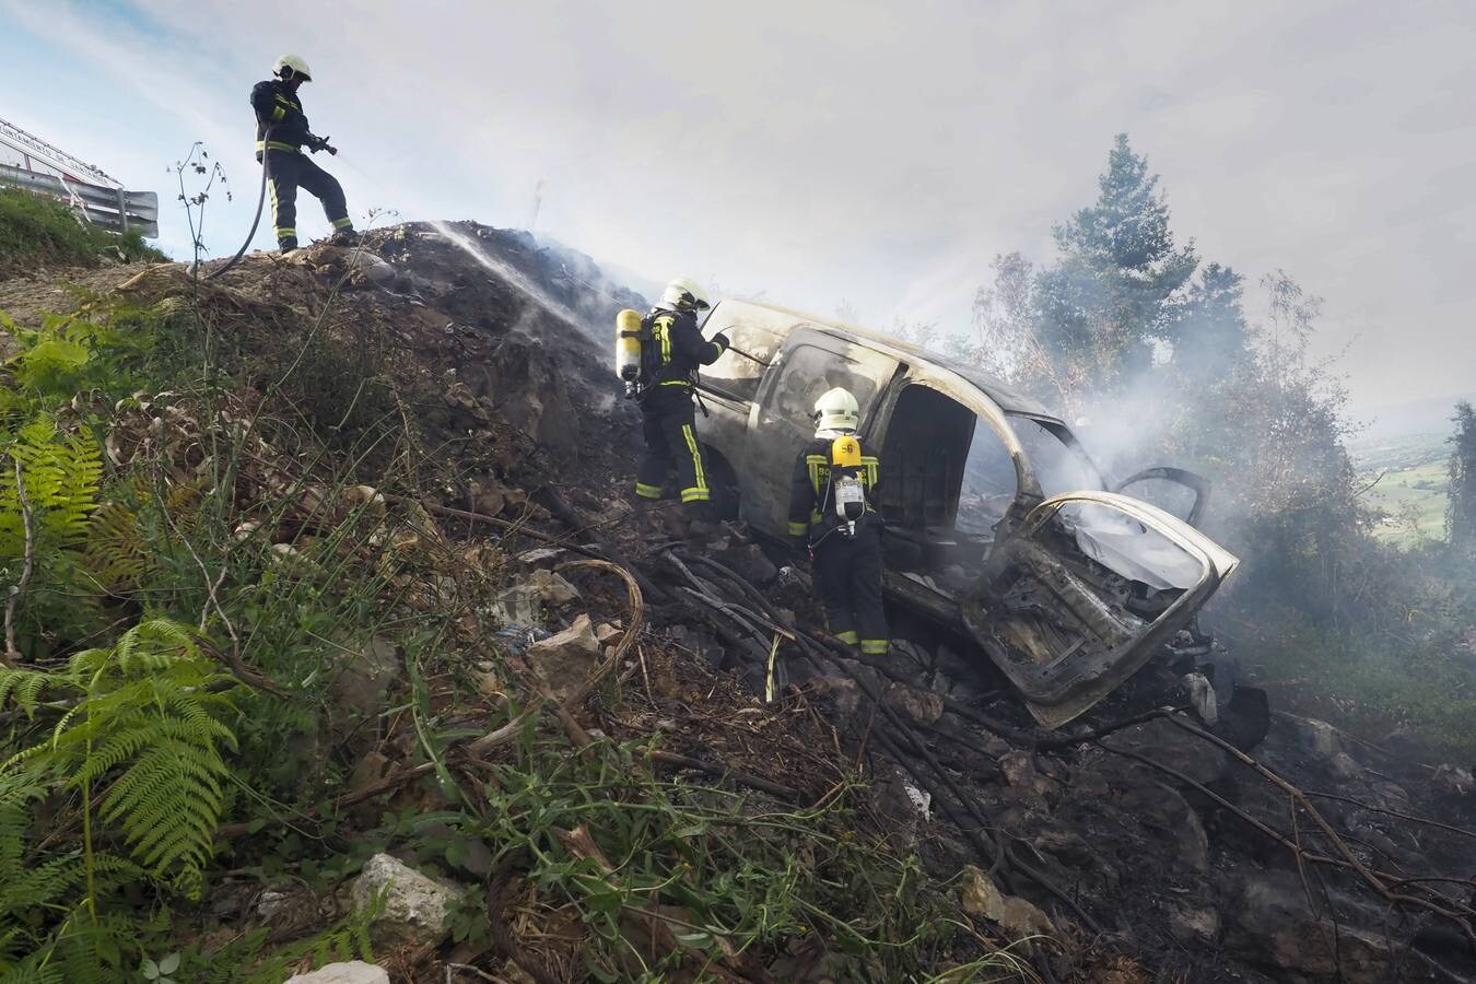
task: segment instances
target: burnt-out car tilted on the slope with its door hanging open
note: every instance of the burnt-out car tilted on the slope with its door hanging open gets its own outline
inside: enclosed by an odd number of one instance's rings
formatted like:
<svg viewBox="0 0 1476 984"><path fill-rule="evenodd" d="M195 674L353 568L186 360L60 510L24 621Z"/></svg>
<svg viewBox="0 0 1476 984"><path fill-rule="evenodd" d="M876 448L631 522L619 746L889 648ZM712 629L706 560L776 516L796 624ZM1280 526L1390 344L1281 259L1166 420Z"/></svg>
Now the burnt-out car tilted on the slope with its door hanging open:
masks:
<svg viewBox="0 0 1476 984"><path fill-rule="evenodd" d="M881 457L889 599L973 636L1042 724L1184 639L1238 564L1193 525L1199 477L1154 468L1108 490L1064 422L987 375L751 301L719 302L703 330L732 339L700 382L719 509L782 538L810 406L850 389Z"/></svg>

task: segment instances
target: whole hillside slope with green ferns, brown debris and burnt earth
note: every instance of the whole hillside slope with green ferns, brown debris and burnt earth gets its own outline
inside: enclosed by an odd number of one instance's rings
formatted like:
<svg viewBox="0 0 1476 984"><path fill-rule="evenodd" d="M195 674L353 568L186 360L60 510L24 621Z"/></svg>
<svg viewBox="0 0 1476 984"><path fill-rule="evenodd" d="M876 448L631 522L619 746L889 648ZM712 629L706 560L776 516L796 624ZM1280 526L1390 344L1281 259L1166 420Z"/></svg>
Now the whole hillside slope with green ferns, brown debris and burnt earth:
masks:
<svg viewBox="0 0 1476 984"><path fill-rule="evenodd" d="M471 223L0 283L0 972L1476 980L1469 769L837 652L632 507L587 283Z"/></svg>

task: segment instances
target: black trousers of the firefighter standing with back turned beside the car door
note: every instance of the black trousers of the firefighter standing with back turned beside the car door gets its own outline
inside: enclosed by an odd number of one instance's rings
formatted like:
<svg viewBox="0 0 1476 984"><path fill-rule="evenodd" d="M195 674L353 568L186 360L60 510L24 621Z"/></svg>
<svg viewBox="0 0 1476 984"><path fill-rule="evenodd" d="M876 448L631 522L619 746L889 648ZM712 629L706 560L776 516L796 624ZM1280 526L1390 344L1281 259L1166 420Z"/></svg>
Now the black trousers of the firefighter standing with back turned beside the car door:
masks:
<svg viewBox="0 0 1476 984"><path fill-rule="evenodd" d="M830 634L863 654L890 651L881 600L881 524L871 521L847 537L835 530L815 544L815 581Z"/></svg>

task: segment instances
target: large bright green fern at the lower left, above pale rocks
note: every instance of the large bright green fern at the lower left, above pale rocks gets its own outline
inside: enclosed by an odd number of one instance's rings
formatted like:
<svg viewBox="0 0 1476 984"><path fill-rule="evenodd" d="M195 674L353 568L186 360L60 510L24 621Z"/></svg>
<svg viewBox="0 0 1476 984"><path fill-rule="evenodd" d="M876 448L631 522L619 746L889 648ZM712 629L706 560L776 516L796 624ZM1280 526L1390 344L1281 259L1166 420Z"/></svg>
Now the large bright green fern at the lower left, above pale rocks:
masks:
<svg viewBox="0 0 1476 984"><path fill-rule="evenodd" d="M99 823L123 835L152 878L199 897L224 808L223 751L236 746L224 723L236 686L201 654L193 630L162 618L139 623L111 649L75 654L62 671L0 668L0 695L28 714L43 695L75 699L0 776L16 772L80 798L93 912Z"/></svg>

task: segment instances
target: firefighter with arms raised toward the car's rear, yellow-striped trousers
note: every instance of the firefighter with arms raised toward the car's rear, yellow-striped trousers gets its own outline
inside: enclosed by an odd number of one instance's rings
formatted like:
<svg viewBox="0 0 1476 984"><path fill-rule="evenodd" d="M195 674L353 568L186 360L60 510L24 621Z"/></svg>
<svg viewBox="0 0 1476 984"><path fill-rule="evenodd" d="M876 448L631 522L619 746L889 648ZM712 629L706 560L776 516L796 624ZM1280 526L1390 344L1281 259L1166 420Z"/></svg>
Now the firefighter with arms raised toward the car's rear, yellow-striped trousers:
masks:
<svg viewBox="0 0 1476 984"><path fill-rule="evenodd" d="M697 311L710 307L692 280L672 280L661 301L641 322L641 404L646 451L636 469L636 496L661 499L675 469L694 534L710 530L711 488L692 412L698 366L711 366L728 348L726 335L706 341Z"/></svg>

